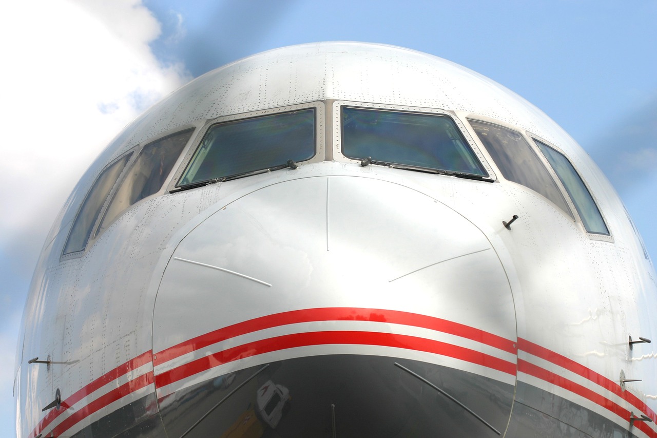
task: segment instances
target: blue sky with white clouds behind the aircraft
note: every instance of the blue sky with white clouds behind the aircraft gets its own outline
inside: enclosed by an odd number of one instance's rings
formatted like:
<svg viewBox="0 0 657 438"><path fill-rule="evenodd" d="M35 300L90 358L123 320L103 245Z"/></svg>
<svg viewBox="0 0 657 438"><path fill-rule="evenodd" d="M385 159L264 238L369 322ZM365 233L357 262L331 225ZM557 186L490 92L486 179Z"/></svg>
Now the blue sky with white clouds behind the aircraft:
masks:
<svg viewBox="0 0 657 438"><path fill-rule="evenodd" d="M32 0L3 12L0 431L14 429L32 272L75 183L150 105L268 49L387 43L505 85L593 157L657 257L657 0Z"/></svg>

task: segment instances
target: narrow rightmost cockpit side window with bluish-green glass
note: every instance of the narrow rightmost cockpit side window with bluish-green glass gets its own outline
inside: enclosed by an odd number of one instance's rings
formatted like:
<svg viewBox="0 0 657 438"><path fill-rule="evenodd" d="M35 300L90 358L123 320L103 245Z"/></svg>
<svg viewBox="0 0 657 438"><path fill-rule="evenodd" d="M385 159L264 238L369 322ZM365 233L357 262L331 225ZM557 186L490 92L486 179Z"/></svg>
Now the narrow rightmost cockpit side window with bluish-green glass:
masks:
<svg viewBox="0 0 657 438"><path fill-rule="evenodd" d="M602 219L598 206L593 201L589 189L586 188L584 182L579 178L579 174L572 164L570 164L568 158L548 145L537 140L534 141L541 149L541 152L543 152L543 155L545 155L545 158L550 162L553 169L555 169L556 175L564 187L566 187L566 191L579 213L584 228L589 233L608 235L609 230L607 230L607 226L604 224L604 219Z"/></svg>

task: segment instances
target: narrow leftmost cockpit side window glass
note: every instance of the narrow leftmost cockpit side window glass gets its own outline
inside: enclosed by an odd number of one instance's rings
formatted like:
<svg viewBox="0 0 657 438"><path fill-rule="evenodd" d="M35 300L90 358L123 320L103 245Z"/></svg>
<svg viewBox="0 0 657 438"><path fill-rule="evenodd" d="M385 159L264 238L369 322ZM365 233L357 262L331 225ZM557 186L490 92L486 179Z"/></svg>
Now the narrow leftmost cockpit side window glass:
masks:
<svg viewBox="0 0 657 438"><path fill-rule="evenodd" d="M116 180L118 180L121 171L125 167L125 163L128 162L131 155L132 153L126 154L110 164L110 166L101 172L96 182L93 183L93 187L87 193L87 197L85 197L78 216L76 216L76 220L73 222L71 231L68 234L66 245L64 245L64 254L77 253L85 249L89 236L91 235L91 230L93 230L98 215L101 213L102 205L105 203L107 195L112 190L112 187L114 187Z"/></svg>

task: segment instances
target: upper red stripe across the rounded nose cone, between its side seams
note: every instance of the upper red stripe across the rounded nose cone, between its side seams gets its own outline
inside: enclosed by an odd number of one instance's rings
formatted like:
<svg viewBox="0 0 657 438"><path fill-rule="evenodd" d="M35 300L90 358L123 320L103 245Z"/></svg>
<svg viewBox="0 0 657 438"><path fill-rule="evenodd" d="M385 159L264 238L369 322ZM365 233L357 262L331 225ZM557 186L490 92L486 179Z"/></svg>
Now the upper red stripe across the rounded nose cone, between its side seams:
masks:
<svg viewBox="0 0 657 438"><path fill-rule="evenodd" d="M173 347L154 354L153 363L154 365L159 365L173 358L182 356L183 354L191 353L192 351L202 349L208 345L212 345L231 337L244 335L246 333L285 326L287 324L315 321L372 321L387 322L388 324L403 324L405 326L427 328L472 339L473 341L484 343L512 354L516 354L517 351L516 345L509 339L464 324L443 320L441 318L401 312L399 310L328 307L292 310L290 312L261 316L260 318L254 318L252 320L233 324L232 326L210 331L210 333L194 337L189 341L181 342Z"/></svg>

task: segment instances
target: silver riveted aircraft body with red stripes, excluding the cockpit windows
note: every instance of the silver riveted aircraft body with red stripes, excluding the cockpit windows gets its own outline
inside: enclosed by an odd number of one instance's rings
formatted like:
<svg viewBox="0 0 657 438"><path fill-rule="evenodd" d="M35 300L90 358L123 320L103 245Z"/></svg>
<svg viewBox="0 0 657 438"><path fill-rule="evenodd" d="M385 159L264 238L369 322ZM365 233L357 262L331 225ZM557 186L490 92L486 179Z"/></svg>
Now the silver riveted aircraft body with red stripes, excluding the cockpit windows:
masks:
<svg viewBox="0 0 657 438"><path fill-rule="evenodd" d="M495 182L342 157L336 101L454 117ZM169 193L215 118L304 103L321 122L313 160ZM505 180L468 118L564 153L611 236L589 235L578 217ZM164 187L62 258L102 168L191 126ZM655 278L600 170L501 85L399 47L277 49L155 105L74 189L26 303L18 437L178 437L208 412L189 436L331 436L332 424L338 437L495 436L431 385L506 437L657 437L641 421L657 420L654 344L628 343L657 337ZM35 357L51 364L28 363ZM254 406L268 381L292 405L272 404L282 416L265 421Z"/></svg>

